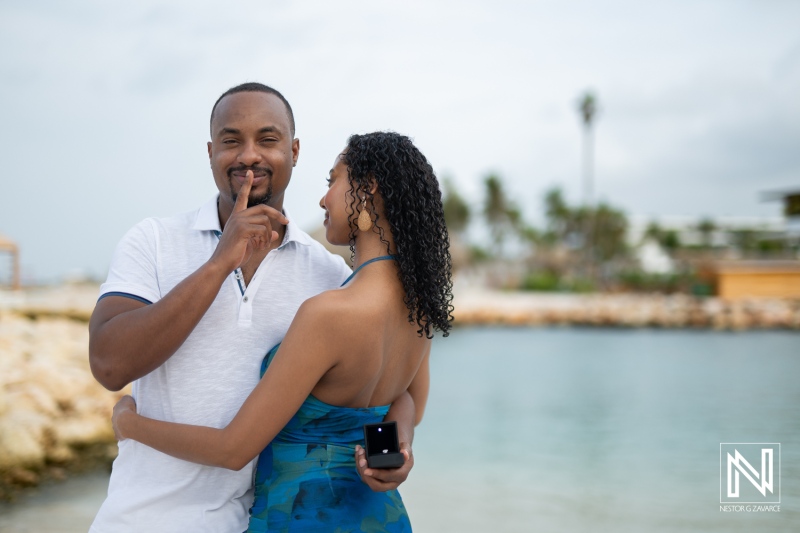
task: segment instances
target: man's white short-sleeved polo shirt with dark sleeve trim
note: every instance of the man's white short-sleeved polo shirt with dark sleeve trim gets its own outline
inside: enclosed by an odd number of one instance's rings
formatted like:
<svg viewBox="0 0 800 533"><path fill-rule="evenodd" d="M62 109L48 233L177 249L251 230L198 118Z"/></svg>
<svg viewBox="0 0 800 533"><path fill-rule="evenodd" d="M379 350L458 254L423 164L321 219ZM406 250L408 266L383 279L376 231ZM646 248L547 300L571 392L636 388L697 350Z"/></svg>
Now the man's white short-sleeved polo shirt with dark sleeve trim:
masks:
<svg viewBox="0 0 800 533"><path fill-rule="evenodd" d="M216 196L199 210L140 222L117 246L100 297L157 302L208 261L220 232ZM255 388L264 355L283 339L300 304L339 287L349 274L341 257L290 221L283 243L250 284L244 286L240 271L232 273L178 351L133 383L139 413L224 427ZM238 472L201 466L124 440L90 533L244 531L254 468L255 460Z"/></svg>

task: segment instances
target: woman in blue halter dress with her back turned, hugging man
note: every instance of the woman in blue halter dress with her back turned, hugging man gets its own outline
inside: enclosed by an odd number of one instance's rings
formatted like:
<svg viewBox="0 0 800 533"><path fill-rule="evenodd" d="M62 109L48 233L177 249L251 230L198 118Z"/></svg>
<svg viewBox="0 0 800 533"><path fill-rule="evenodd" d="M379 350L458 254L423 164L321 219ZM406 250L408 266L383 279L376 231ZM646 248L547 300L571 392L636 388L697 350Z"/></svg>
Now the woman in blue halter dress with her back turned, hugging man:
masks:
<svg viewBox="0 0 800 533"><path fill-rule="evenodd" d="M114 430L210 466L238 470L260 453L248 531L410 531L400 495L361 482L353 452L363 424L381 421L391 403L408 391L427 397L433 332L450 330L441 192L407 137L353 135L320 207L326 238L350 244L356 269L342 288L300 307L231 423L152 420L126 397L114 409ZM419 422L424 405L416 408Z"/></svg>

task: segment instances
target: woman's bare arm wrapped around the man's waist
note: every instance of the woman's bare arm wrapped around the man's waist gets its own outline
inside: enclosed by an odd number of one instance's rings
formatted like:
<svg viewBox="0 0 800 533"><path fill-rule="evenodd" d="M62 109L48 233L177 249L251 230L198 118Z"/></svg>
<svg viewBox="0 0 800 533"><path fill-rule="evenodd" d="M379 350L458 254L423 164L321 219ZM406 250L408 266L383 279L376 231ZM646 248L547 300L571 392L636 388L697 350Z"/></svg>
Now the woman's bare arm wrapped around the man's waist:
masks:
<svg viewBox="0 0 800 533"><path fill-rule="evenodd" d="M193 463L240 470L256 457L294 416L325 373L338 362L344 339L335 312L320 299L297 312L264 377L226 427L215 429L140 416L133 400L114 408L119 439L133 439ZM343 349L343 348L342 348Z"/></svg>

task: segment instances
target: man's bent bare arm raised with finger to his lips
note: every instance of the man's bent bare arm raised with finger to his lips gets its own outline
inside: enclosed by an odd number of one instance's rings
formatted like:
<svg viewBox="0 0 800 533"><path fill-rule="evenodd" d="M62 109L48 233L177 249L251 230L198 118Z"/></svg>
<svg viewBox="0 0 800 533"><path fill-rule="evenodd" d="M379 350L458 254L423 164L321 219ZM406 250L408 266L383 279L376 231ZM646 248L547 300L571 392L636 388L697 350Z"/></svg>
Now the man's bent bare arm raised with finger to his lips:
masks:
<svg viewBox="0 0 800 533"><path fill-rule="evenodd" d="M247 208L251 183L249 172L208 262L161 300L148 305L108 296L97 303L89 322L89 362L104 387L119 390L169 359L203 318L226 277L277 237L270 219L288 223L271 207Z"/></svg>

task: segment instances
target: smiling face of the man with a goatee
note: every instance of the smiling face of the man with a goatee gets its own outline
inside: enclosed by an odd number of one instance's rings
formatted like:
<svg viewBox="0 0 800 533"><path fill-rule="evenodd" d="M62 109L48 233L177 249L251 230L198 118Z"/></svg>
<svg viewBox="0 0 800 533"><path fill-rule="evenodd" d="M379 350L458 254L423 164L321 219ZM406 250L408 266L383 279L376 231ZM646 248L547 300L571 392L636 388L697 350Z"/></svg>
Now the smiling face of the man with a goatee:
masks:
<svg viewBox="0 0 800 533"><path fill-rule="evenodd" d="M220 211L233 209L248 170L253 171L248 207L263 203L282 208L299 152L300 141L292 138L286 107L277 96L243 92L223 98L208 143Z"/></svg>

